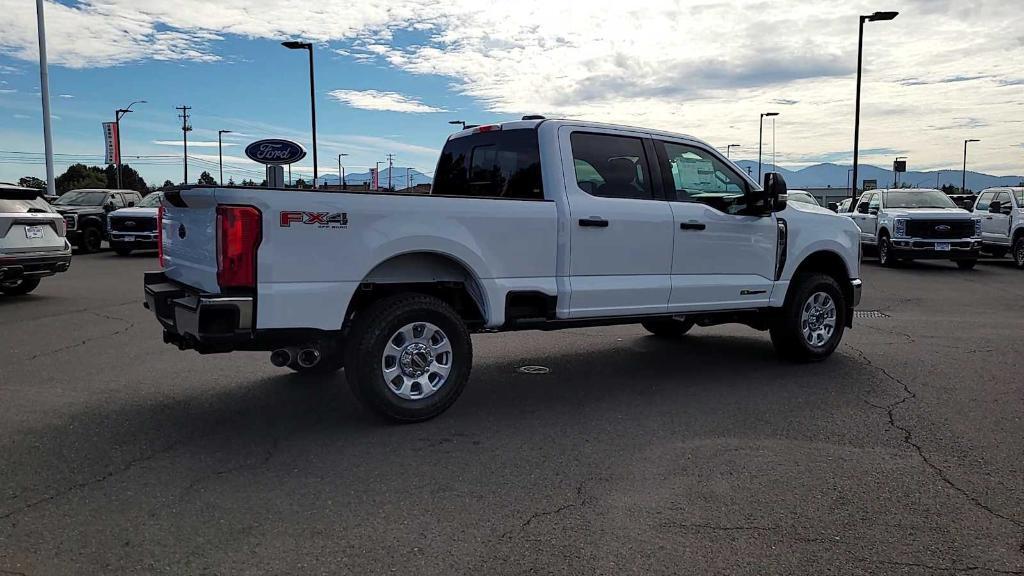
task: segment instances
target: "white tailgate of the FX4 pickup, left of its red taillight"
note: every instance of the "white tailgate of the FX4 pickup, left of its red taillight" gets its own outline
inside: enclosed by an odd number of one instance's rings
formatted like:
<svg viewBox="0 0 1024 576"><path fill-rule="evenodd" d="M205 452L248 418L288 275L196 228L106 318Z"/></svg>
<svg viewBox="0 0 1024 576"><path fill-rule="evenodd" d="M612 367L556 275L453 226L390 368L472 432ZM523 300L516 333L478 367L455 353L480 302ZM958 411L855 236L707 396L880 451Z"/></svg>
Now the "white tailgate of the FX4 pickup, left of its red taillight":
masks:
<svg viewBox="0 0 1024 576"><path fill-rule="evenodd" d="M167 278L218 292L217 199L213 189L168 193L160 234Z"/></svg>

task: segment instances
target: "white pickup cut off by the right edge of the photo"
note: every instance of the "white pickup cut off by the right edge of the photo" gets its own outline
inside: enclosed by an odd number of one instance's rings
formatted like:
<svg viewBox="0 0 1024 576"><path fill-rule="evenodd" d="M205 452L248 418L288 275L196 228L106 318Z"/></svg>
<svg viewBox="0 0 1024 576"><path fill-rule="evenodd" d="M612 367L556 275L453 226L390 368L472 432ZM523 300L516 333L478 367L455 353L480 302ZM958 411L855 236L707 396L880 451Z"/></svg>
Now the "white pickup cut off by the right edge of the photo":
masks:
<svg viewBox="0 0 1024 576"><path fill-rule="evenodd" d="M981 191L974 215L981 222L982 249L997 257L1012 251L1017 268L1024 269L1024 188Z"/></svg>

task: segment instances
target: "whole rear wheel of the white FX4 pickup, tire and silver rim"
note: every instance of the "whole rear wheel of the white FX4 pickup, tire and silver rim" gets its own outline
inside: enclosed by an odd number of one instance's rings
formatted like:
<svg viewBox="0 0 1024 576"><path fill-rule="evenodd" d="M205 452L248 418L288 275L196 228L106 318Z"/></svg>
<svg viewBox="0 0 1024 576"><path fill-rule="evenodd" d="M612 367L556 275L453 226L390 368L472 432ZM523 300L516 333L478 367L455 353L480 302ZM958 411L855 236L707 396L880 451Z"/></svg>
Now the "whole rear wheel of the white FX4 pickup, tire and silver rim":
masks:
<svg viewBox="0 0 1024 576"><path fill-rule="evenodd" d="M473 364L469 330L452 306L425 294L378 300L349 330L345 376L368 408L397 422L447 410Z"/></svg>

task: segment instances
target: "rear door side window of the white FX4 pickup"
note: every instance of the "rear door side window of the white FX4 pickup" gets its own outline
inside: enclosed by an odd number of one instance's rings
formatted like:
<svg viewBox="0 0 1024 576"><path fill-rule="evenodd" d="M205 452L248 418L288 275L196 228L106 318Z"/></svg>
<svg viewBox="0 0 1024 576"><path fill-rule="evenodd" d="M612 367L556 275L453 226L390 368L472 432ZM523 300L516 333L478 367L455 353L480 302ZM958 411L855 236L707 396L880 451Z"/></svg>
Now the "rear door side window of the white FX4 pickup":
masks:
<svg viewBox="0 0 1024 576"><path fill-rule="evenodd" d="M603 198L652 198L642 139L573 132L570 140L581 190Z"/></svg>

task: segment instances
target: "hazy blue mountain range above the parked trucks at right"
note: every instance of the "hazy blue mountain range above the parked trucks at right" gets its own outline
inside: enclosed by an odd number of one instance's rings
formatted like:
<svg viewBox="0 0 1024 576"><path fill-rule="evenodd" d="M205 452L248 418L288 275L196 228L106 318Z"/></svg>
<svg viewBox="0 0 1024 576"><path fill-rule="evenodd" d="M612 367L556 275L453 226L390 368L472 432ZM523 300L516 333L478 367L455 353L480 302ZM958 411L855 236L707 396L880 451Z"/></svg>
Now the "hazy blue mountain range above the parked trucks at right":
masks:
<svg viewBox="0 0 1024 576"><path fill-rule="evenodd" d="M746 170L750 168L754 177L757 178L758 163L750 160L740 160L736 164ZM800 170L787 170L778 166L775 171L780 172L785 178L785 183L790 188L849 188L850 175L848 171L851 166L840 164L814 164ZM771 164L762 164L762 171L768 172L772 169ZM915 188L940 188L943 184L961 186L963 172L959 170L935 170L931 172L903 172L899 176L900 183L908 183ZM857 170L857 179L878 180L879 188L887 188L893 184L893 171L878 166L861 164ZM981 172L967 172L967 188L974 192L982 191L986 188L997 186L1019 186L1024 181L1024 176L993 176ZM936 183L938 182L938 183ZM859 188L859 187L858 187Z"/></svg>

